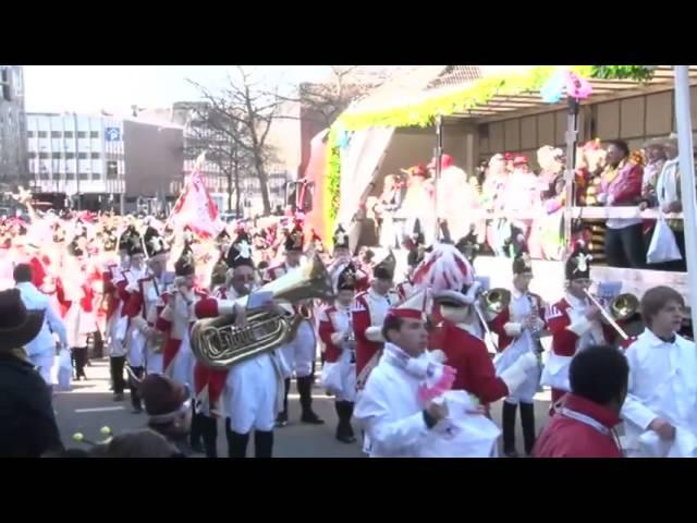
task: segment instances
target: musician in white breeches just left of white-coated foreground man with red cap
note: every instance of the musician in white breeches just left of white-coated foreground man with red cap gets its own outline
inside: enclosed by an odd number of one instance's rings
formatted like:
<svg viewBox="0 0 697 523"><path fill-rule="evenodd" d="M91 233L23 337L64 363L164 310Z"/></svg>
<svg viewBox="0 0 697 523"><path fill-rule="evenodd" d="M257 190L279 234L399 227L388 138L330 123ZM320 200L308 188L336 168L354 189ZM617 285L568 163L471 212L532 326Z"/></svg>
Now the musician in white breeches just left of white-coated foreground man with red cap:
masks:
<svg viewBox="0 0 697 523"><path fill-rule="evenodd" d="M325 387L335 394L334 408L339 416L337 439L342 443L353 443L356 441L351 426L356 398L356 341L351 304L356 287L356 269L348 263L337 272L337 300L322 311L319 319L319 338L326 346L322 378Z"/></svg>

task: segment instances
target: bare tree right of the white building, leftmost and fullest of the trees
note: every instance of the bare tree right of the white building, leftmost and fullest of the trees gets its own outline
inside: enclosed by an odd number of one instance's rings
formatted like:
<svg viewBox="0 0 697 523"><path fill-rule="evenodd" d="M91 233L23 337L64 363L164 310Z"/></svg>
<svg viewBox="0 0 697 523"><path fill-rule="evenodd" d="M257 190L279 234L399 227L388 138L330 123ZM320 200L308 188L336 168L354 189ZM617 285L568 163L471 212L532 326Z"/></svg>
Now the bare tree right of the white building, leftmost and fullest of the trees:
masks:
<svg viewBox="0 0 697 523"><path fill-rule="evenodd" d="M271 92L265 90L242 66L237 66L237 72L239 77L229 76L228 87L220 93L212 93L196 82L189 82L198 88L208 107L201 129L212 131L216 137L209 145L209 154L216 158L217 147L220 146L218 158L232 169L229 180L233 179L235 183L237 210L241 197L240 173L244 166L245 171L259 181L264 214L268 215L271 202L266 166L272 160L273 150L267 144L267 136L281 98L278 86ZM205 143L200 145L208 146Z"/></svg>

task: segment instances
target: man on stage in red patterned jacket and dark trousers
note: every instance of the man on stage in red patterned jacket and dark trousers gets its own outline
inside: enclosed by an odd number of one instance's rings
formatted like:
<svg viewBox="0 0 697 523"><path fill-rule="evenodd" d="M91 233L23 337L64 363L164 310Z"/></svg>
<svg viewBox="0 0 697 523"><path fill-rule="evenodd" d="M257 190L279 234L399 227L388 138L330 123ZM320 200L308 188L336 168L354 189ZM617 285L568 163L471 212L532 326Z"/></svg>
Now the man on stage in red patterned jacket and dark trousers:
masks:
<svg viewBox="0 0 697 523"><path fill-rule="evenodd" d="M615 139L608 147L608 166L602 173L599 202L606 207L639 204L644 166L638 157L629 158L626 142ZM644 268L644 226L640 218L609 218L606 222L606 256L612 267Z"/></svg>

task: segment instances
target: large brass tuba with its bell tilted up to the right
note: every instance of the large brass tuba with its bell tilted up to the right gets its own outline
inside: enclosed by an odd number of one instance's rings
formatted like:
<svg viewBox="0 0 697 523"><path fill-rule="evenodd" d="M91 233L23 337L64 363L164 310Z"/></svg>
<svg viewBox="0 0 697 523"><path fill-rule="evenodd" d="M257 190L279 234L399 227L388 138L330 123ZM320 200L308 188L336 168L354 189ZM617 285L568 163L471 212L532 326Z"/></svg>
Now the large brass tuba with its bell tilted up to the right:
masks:
<svg viewBox="0 0 697 523"><path fill-rule="evenodd" d="M295 303L309 299L333 299L333 285L319 255L310 263L262 285L257 292L271 292L274 301ZM248 296L235 305L246 307ZM234 316L199 319L192 329L192 352L211 368L231 368L258 354L285 343L297 328L298 318L292 311L248 309L244 326L235 325Z"/></svg>

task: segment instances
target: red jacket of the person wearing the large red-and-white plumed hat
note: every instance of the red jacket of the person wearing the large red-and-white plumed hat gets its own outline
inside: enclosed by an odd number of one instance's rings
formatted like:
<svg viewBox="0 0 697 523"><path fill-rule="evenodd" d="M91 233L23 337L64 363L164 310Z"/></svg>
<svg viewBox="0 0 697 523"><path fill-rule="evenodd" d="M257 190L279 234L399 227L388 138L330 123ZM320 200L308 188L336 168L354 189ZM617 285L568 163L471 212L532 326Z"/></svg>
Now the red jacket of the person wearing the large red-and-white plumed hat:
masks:
<svg viewBox="0 0 697 523"><path fill-rule="evenodd" d="M457 369L454 390L466 390L481 403L491 403L509 394L508 387L496 375L484 341L449 320L444 320L438 331L442 339L439 349L445 353L445 362Z"/></svg>

